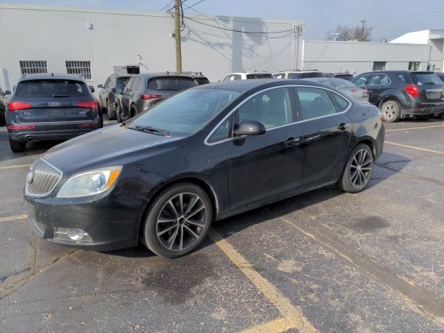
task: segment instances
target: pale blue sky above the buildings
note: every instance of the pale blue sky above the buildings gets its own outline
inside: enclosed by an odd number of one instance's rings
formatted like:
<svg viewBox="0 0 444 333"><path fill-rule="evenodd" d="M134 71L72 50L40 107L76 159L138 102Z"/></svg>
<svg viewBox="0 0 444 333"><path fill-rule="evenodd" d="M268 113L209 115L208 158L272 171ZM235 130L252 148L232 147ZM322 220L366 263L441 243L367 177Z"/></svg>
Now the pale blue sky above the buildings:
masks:
<svg viewBox="0 0 444 333"><path fill-rule="evenodd" d="M22 0L13 3L80 8L165 11L171 0ZM8 1L8 3L11 3ZM75 4L75 5L74 5ZM193 6L196 4L195 6ZM188 8L187 6L192 6ZM388 41L411 31L444 29L444 0L185 0L188 14L259 17L305 22L306 40L323 40L338 24L373 27L372 40ZM196 12L198 10L198 12Z"/></svg>

